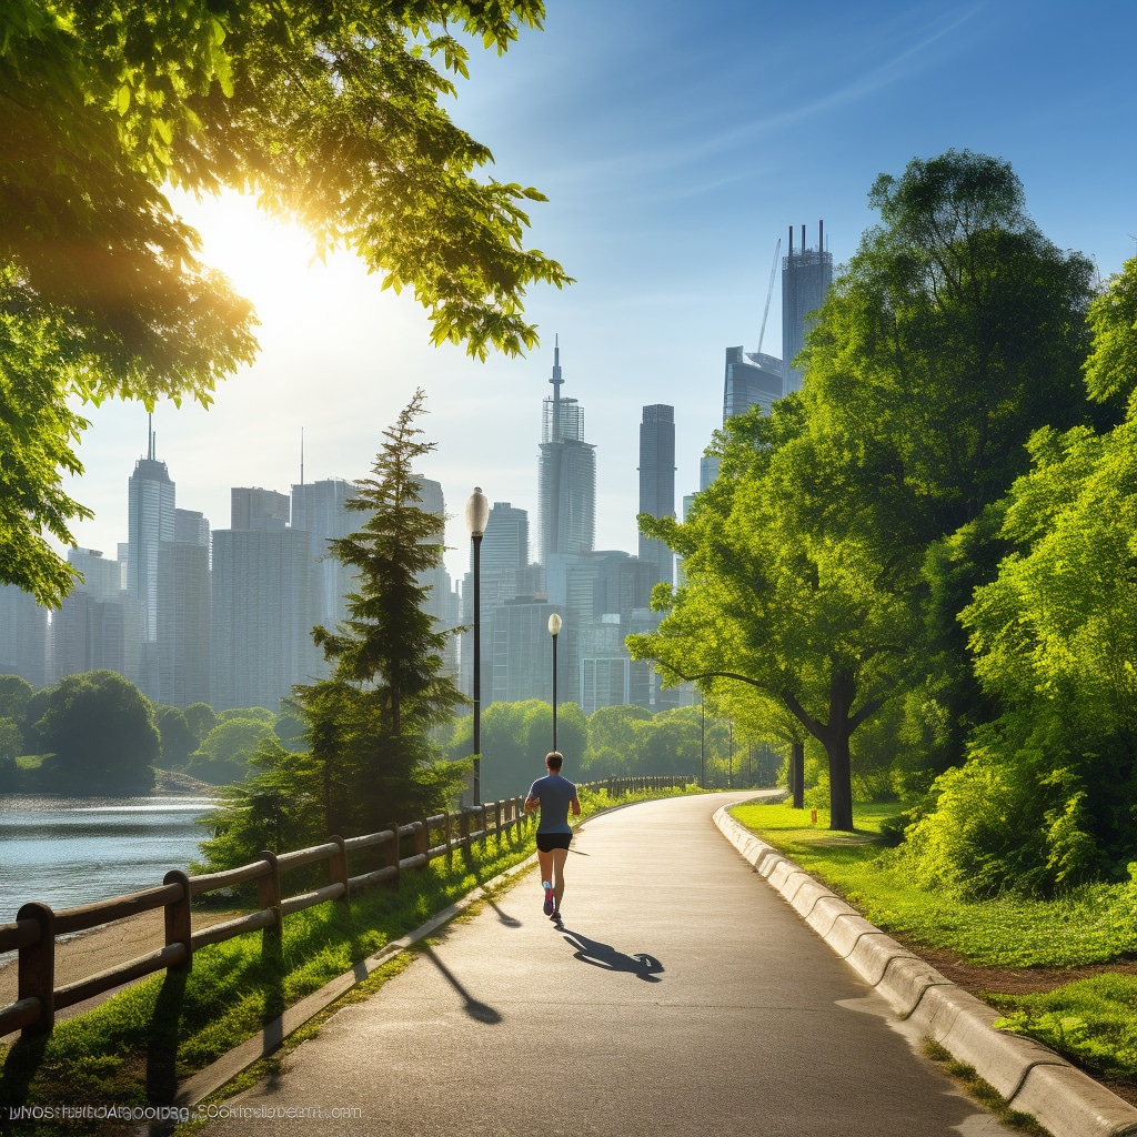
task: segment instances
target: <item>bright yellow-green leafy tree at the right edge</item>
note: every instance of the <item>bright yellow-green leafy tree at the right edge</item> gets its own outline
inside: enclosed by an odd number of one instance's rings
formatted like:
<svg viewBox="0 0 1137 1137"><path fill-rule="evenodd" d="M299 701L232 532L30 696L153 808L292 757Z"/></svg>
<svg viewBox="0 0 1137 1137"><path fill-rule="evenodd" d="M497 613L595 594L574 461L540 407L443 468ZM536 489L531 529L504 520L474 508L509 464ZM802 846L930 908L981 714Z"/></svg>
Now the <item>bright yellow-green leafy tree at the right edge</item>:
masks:
<svg viewBox="0 0 1137 1137"><path fill-rule="evenodd" d="M1090 309L1087 385L1137 388L1137 260ZM999 713L936 782L908 831L929 882L976 895L1128 871L1137 839L1137 421L1031 439L1034 468L1003 504L1010 546L963 612Z"/></svg>

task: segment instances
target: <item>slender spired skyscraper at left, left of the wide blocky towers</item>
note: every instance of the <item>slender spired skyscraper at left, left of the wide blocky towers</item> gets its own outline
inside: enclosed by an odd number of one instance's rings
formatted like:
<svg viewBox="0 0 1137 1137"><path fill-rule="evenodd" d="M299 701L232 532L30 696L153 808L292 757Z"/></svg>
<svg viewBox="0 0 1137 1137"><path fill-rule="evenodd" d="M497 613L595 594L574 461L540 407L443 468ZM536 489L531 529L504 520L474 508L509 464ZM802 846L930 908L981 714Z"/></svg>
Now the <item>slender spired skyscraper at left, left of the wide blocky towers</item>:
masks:
<svg viewBox="0 0 1137 1137"><path fill-rule="evenodd" d="M158 555L174 540L174 483L166 463L155 457L153 431L147 456L139 458L127 484L126 591L139 605L139 674L143 694L158 702Z"/></svg>

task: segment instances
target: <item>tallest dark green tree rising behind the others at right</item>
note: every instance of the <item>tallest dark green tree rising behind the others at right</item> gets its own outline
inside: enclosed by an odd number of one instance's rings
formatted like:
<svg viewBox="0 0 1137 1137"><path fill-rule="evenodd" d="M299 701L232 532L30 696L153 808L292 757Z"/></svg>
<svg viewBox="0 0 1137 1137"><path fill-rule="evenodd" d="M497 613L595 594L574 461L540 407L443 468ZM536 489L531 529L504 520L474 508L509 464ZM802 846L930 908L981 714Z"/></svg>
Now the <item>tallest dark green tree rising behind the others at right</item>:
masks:
<svg viewBox="0 0 1137 1137"><path fill-rule="evenodd" d="M918 790L996 712L956 619L1007 553L985 511L1026 473L1035 430L1112 423L1118 407L1092 407L1082 387L1093 266L1038 231L1010 165L949 150L882 174L869 200L881 224L802 357L822 460L798 500L827 533L870 541L918 607L922 665L905 677L921 690L905 730L927 738Z"/></svg>

